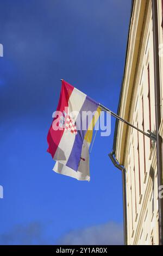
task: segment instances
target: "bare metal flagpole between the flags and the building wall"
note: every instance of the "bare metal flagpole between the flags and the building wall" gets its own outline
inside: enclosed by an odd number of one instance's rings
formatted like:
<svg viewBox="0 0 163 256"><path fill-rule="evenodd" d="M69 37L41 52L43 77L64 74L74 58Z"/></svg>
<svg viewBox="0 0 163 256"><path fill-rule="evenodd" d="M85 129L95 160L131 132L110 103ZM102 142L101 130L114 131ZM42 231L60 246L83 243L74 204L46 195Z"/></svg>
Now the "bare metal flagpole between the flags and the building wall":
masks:
<svg viewBox="0 0 163 256"><path fill-rule="evenodd" d="M133 124L130 124L128 121L124 120L123 118L121 118L119 115L117 115L116 113L112 112L109 108L103 106L101 103L99 103L99 106L102 108L103 111L105 112L109 112L113 117L117 118L118 120L122 121L123 123L133 127L134 129L136 129L137 131L141 132L143 135L146 135L148 138L150 138L152 141L156 141L156 136L154 135L153 132L151 131L147 131L144 132L142 130L140 130L138 127L134 126Z"/></svg>

